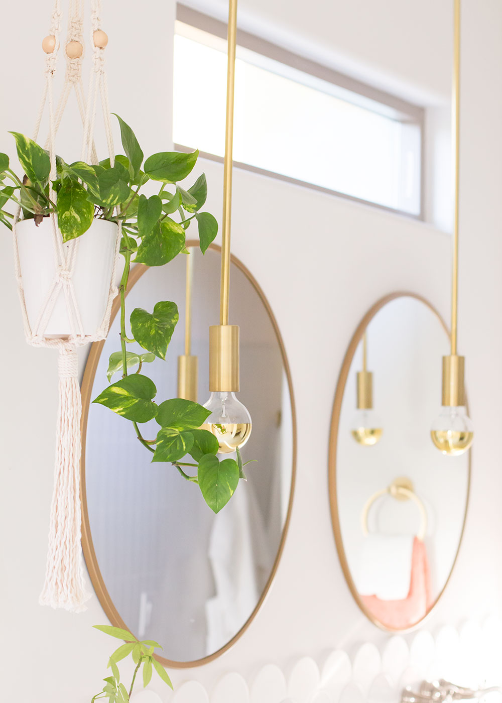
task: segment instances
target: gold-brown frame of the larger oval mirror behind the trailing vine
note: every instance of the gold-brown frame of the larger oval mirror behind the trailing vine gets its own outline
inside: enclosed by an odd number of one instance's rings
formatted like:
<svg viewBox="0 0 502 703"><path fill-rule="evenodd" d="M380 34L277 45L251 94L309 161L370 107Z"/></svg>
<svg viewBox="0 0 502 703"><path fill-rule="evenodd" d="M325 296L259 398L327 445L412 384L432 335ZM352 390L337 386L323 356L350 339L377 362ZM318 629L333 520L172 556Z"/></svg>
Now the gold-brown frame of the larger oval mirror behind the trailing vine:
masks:
<svg viewBox="0 0 502 703"><path fill-rule="evenodd" d="M186 242L187 247L198 247L199 243L196 240L188 240ZM210 245L209 247L212 251L221 253L221 247L218 245ZM244 266L242 262L240 262L239 259L231 255L231 263L234 264L234 266L237 266L237 268L244 273L246 276L247 280L250 281L251 285L253 288L255 288L255 291L257 292L257 296L259 297L260 301L264 305L264 308L266 309L267 314L269 315L270 321L273 326L273 330L276 333L276 339L279 345L279 348L281 349L281 356L283 359L283 368L285 371L286 378L288 380L288 389L289 389L289 394L290 394L290 401L291 401L291 415L292 415L292 471L291 471L291 487L290 487L290 499L288 503L288 512L286 513L285 521L284 521L284 526L283 526L283 531L281 535L281 541L279 542L278 546L278 551L276 555L276 559L273 562L273 567L269 576L268 581L265 584L264 590L262 591L262 595L260 595L260 598L257 602L257 605L255 606L255 610L252 611L250 614L250 617L247 619L245 624L243 625L242 628L236 633L236 635L229 640L229 642L224 645L224 647L221 647L219 650L216 652L213 652L212 654L209 654L207 657L203 657L202 659L196 659L192 662L175 662L172 659L165 659L165 657L160 657L160 655L155 654L155 659L159 661L161 664L164 666L170 667L171 669L188 669L193 666L202 666L203 664L207 664L209 662L212 662L214 659L217 659L217 657L220 656L220 654L223 654L223 652L226 652L226 650L229 650L232 645L234 645L237 640L240 639L241 636L245 633L247 628L250 626L252 621L255 619L260 607L262 607L262 604L266 598L266 594L269 592L269 588L271 586L271 583L273 579L276 576L276 572L278 569L279 562L281 561L281 556L283 553L283 548L286 540L286 536L288 535L288 528L290 524L290 517L291 517L291 510L292 510L292 501L293 501L293 496L295 494L295 480L296 480L296 455L297 455L297 420L296 420L296 411L295 411L295 396L293 395L293 388L292 388L292 380L291 380L291 372L290 372L290 366L288 363L288 357L286 356L285 352L285 347L283 343L283 339L281 337L281 333L279 331L278 325L276 318L273 316L273 312L271 310L270 304L268 300L266 299L264 292L262 291L262 288L259 287L257 281L255 278L252 276L250 271ZM148 271L148 266L144 266L143 264L136 264L136 266L133 267L131 270L131 274L129 276L129 285L127 286L127 292L126 296L131 290L131 288L134 286L134 284L143 276L146 271ZM110 316L110 325L112 322L115 320L115 316L117 315L117 312L120 310L120 299L117 297L115 298L115 301L113 302L113 307L112 307L112 314ZM86 430L87 430L87 418L89 415L89 404L91 403L91 394L92 394L92 387L94 383L94 377L96 375L96 369L98 367L98 361L101 356L101 352L103 351L103 346L105 344L106 340L103 340L101 342L94 342L91 344L91 350L89 352L89 356L86 361L86 366L84 370L84 378L82 379L82 422L81 422L81 430L82 430L82 458L80 460L80 496L82 499L82 550L84 551L84 557L86 561L86 566L89 571L89 576L91 577L91 583L94 587L94 591L96 592L96 595L98 596L98 600L101 603L101 606L103 607L103 610L105 611L106 616L110 620L110 623L114 625L115 627L121 627L125 629L129 629L127 624L124 623L122 618L120 617L119 612L115 608L115 605L112 601L112 598L110 596L110 593L108 593L108 589L105 586L105 581L103 579L103 576L101 574L101 570L99 569L98 565L98 560L96 557L96 552L94 550L94 544L92 541L92 535L91 535L91 526L89 524L89 513L87 510L87 498L86 498L86 484L85 484L85 450L86 450Z"/></svg>

